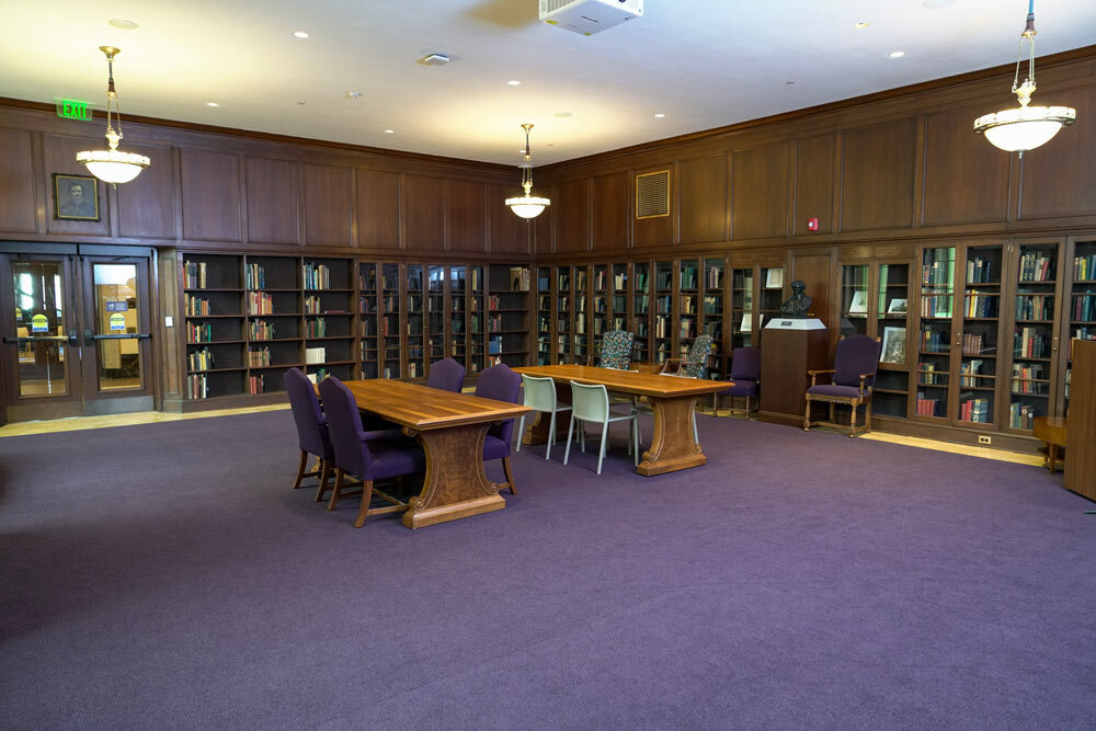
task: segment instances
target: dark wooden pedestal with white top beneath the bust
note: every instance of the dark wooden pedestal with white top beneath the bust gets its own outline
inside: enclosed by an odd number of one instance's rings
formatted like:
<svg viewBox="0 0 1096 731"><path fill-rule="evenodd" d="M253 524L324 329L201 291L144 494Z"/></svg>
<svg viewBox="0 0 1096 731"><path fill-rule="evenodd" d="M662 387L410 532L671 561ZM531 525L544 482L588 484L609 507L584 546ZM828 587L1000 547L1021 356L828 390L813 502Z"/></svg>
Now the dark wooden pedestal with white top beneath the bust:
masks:
<svg viewBox="0 0 1096 731"><path fill-rule="evenodd" d="M821 320L769 321L761 338L762 421L801 426L808 370L830 367L830 331Z"/></svg>

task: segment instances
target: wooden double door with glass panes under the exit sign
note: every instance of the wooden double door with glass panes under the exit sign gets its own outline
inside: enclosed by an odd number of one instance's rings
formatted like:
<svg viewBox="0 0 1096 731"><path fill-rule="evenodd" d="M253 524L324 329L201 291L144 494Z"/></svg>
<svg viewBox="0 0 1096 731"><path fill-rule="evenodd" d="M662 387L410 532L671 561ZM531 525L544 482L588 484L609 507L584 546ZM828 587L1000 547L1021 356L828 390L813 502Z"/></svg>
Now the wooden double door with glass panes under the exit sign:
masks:
<svg viewBox="0 0 1096 731"><path fill-rule="evenodd" d="M8 421L153 408L149 256L0 254Z"/></svg>

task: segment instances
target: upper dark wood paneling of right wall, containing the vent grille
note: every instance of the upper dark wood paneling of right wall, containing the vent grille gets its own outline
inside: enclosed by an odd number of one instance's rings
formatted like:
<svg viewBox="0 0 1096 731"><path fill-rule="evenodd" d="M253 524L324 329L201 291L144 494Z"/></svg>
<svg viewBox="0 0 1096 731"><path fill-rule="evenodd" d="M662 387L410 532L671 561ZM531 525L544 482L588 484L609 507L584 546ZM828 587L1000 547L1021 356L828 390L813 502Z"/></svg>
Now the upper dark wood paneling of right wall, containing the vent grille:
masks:
<svg viewBox="0 0 1096 731"><path fill-rule="evenodd" d="M535 227L536 256L824 244L836 252L838 244L1091 230L1096 47L1041 59L1040 103L1074 106L1077 122L1023 161L972 132L975 116L1015 103L1012 68L998 70L541 168L538 189L552 205ZM671 216L637 219L636 176L655 170L671 171ZM818 230L808 229L811 218Z"/></svg>

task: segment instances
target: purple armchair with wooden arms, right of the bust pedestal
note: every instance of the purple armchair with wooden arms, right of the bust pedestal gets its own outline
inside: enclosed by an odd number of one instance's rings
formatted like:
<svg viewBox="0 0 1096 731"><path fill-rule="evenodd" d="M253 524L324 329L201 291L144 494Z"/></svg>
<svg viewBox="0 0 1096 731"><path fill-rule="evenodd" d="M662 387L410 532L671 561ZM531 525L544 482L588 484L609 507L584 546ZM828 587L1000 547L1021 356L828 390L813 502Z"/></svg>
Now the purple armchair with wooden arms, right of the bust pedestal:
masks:
<svg viewBox="0 0 1096 731"><path fill-rule="evenodd" d="M871 335L852 335L837 342L837 356L831 370L808 370L811 386L807 389L807 409L803 412L803 431L811 426L840 426L834 421L834 406L850 407L848 435L856 436L856 409L863 403L866 431L871 431L871 389L876 382L879 352L882 345ZM829 384L819 384L818 377L832 374ZM830 421L811 421L811 403L830 404Z"/></svg>

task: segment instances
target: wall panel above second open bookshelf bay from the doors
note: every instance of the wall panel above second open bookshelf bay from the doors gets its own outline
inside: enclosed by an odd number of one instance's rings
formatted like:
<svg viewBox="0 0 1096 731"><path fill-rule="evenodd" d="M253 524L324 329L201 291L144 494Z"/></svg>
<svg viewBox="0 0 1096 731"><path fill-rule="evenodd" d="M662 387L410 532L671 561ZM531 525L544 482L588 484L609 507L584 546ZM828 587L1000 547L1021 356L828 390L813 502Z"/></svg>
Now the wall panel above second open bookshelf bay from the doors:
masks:
<svg viewBox="0 0 1096 731"><path fill-rule="evenodd" d="M287 160L247 159L248 241L298 242L299 169Z"/></svg>

